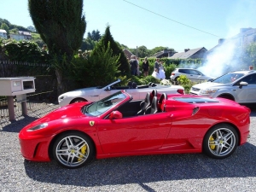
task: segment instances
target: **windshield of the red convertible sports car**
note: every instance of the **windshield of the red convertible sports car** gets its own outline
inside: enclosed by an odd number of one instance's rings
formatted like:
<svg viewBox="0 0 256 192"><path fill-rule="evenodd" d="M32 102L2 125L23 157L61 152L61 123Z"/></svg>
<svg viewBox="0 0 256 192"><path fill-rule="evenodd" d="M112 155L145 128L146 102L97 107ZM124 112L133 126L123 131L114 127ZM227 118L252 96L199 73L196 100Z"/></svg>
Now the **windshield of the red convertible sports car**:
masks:
<svg viewBox="0 0 256 192"><path fill-rule="evenodd" d="M114 93L111 96L105 97L98 102L93 102L89 106L84 106L82 112L91 116L99 116L108 111L109 108L115 107L119 102L125 100L125 94L121 91Z"/></svg>

